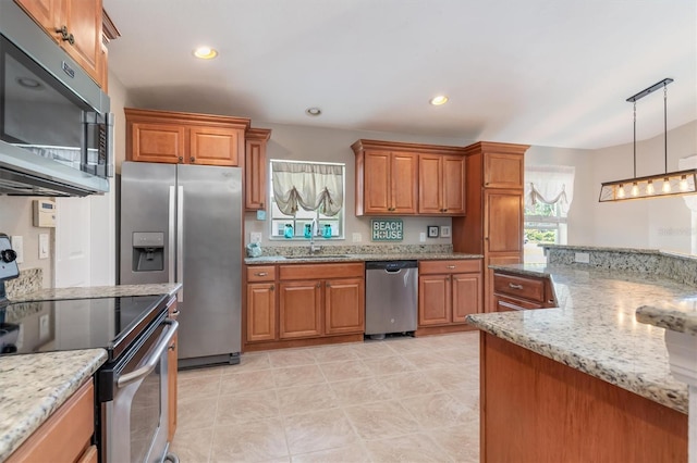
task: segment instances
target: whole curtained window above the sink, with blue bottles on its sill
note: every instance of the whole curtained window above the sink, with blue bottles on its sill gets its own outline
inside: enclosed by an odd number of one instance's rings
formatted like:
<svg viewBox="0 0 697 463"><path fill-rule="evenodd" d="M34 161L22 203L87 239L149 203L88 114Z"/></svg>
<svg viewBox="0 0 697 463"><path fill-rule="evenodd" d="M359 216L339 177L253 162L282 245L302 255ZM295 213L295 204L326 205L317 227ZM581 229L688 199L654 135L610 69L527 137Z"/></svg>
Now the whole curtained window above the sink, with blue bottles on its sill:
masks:
<svg viewBox="0 0 697 463"><path fill-rule="evenodd" d="M270 161L271 239L343 239L345 164Z"/></svg>

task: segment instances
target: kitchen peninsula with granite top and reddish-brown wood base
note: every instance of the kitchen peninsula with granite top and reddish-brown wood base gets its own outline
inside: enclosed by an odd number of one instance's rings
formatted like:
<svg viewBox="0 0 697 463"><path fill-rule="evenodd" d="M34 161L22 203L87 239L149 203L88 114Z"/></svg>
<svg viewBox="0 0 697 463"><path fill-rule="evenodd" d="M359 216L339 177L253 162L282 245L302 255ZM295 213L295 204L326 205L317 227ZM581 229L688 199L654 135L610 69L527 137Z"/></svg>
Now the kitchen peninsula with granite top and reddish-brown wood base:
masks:
<svg viewBox="0 0 697 463"><path fill-rule="evenodd" d="M635 311L684 304L695 286L612 265L492 268L550 278L557 308L468 316L482 331L482 461L686 461L687 387L663 329Z"/></svg>

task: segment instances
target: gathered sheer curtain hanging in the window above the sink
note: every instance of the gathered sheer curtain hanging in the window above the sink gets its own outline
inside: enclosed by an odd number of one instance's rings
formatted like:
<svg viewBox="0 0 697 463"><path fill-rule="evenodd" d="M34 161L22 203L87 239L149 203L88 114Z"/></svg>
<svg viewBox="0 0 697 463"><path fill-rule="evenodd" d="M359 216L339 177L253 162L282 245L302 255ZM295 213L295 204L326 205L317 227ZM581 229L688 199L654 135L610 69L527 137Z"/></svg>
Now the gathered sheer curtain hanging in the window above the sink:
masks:
<svg viewBox="0 0 697 463"><path fill-rule="evenodd" d="M298 208L337 215L344 204L343 165L271 161L273 199L286 215Z"/></svg>

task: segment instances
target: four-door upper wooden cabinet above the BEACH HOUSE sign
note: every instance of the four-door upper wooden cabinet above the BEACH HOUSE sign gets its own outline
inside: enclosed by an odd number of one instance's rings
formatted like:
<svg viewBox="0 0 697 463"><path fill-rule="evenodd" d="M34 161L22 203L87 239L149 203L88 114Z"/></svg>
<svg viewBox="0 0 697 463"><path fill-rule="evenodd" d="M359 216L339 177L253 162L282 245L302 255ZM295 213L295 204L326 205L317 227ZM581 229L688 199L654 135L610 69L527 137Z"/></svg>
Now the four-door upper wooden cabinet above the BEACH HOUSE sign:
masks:
<svg viewBox="0 0 697 463"><path fill-rule="evenodd" d="M462 215L463 149L358 140L356 215Z"/></svg>

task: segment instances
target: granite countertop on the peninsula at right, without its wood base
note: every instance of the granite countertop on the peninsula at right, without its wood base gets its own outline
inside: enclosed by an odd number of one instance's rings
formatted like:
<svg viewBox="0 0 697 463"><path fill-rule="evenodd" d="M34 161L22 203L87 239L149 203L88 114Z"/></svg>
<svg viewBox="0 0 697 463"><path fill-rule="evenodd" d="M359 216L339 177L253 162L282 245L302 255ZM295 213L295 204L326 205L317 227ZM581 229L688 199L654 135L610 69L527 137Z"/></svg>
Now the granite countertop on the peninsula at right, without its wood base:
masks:
<svg viewBox="0 0 697 463"><path fill-rule="evenodd" d="M559 308L469 315L470 324L687 413L687 385L670 373L664 330L637 323L635 311L692 308L697 287L651 274L558 264L491 268L550 277Z"/></svg>

